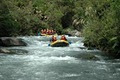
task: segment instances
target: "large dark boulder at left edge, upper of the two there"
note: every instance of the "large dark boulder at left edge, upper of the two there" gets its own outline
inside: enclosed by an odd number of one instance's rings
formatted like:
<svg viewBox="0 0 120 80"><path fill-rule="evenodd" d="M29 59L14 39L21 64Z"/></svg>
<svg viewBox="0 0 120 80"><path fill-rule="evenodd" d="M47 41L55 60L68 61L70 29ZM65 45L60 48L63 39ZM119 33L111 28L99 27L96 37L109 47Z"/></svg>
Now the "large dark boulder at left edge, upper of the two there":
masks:
<svg viewBox="0 0 120 80"><path fill-rule="evenodd" d="M1 37L0 46L11 47L11 46L26 46L27 44L20 38L15 37Z"/></svg>

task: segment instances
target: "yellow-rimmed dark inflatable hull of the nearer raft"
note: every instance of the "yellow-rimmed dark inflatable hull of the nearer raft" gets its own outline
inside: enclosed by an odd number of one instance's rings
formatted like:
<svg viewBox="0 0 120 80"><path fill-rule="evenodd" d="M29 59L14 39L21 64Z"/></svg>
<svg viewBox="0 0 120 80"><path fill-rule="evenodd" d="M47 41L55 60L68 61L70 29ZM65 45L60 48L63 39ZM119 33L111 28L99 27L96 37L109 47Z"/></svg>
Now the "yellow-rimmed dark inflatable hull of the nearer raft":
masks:
<svg viewBox="0 0 120 80"><path fill-rule="evenodd" d="M57 40L55 42L52 42L50 46L51 47L65 47L65 46L69 46L69 42L65 40Z"/></svg>

